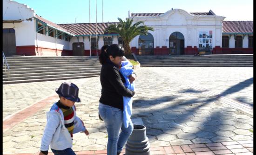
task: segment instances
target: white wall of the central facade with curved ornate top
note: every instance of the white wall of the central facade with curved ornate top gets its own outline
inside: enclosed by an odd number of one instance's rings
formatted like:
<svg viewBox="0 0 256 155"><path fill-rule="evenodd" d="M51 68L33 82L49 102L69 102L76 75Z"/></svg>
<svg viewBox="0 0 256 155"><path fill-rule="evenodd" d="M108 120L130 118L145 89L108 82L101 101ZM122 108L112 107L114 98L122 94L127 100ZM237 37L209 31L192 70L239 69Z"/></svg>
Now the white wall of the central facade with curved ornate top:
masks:
<svg viewBox="0 0 256 155"><path fill-rule="evenodd" d="M132 18L132 17L130 17ZM169 46L169 37L173 32L181 32L186 46L197 46L199 31L213 31L213 47L222 45L222 16L194 16L182 9L169 10L158 17L134 17L134 23L144 24L155 29L150 32L156 46ZM131 46L138 48L138 38L132 40Z"/></svg>

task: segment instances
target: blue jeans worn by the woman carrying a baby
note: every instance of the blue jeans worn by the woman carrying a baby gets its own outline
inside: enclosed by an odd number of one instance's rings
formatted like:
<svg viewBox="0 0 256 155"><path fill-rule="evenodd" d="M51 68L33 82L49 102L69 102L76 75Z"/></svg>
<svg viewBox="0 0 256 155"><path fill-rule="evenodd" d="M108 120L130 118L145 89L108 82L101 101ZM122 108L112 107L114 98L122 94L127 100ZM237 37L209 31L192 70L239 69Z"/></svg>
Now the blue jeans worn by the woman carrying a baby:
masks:
<svg viewBox="0 0 256 155"><path fill-rule="evenodd" d="M107 153L108 155L116 155L117 152L121 152L132 134L133 123L129 122L128 128L125 128L122 121L123 111L109 105L100 103L99 113L108 131Z"/></svg>

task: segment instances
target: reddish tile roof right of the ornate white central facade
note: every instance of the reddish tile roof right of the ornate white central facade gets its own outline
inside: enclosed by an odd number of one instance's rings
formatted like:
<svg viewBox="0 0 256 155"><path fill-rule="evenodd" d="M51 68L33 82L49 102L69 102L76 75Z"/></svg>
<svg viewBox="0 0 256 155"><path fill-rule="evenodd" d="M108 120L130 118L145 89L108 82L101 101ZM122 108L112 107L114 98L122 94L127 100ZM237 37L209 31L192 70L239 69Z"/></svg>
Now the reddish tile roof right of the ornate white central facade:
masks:
<svg viewBox="0 0 256 155"><path fill-rule="evenodd" d="M222 21L224 33L253 33L253 21Z"/></svg>

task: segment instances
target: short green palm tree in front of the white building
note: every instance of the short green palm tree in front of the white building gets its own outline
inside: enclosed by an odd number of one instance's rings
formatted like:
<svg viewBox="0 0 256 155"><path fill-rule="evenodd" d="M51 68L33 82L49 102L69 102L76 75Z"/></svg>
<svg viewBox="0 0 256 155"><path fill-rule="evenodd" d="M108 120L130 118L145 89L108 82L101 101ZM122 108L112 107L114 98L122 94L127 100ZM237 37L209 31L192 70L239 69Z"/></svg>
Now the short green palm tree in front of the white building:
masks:
<svg viewBox="0 0 256 155"><path fill-rule="evenodd" d="M129 45L132 39L134 39L136 36L141 34L147 35L149 30L154 31L153 27L148 27L145 25L139 26L140 24L144 24L143 21L138 21L132 25L133 19L126 19L126 21L122 20L121 18L117 18L117 19L120 21L120 23L118 25L108 26L105 32L108 32L108 33L114 32L114 33L118 33L121 36L126 55L132 54L132 51Z"/></svg>

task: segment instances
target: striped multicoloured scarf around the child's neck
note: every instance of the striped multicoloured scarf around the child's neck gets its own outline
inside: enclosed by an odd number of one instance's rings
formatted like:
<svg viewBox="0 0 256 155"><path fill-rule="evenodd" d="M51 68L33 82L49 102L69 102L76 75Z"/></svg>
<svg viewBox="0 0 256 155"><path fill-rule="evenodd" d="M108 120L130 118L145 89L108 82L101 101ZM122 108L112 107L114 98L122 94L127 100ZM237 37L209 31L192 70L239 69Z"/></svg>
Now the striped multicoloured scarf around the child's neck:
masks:
<svg viewBox="0 0 256 155"><path fill-rule="evenodd" d="M64 115L64 124L67 128L68 132L70 133L70 136L73 139L73 130L74 130L74 110L72 107L64 106L59 102L57 104L59 108L61 108L63 115Z"/></svg>

